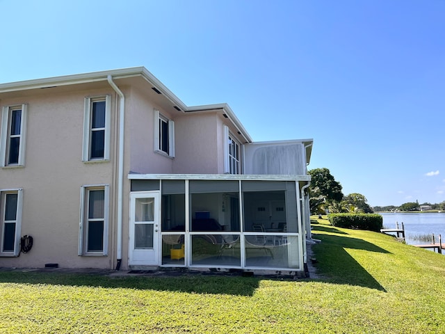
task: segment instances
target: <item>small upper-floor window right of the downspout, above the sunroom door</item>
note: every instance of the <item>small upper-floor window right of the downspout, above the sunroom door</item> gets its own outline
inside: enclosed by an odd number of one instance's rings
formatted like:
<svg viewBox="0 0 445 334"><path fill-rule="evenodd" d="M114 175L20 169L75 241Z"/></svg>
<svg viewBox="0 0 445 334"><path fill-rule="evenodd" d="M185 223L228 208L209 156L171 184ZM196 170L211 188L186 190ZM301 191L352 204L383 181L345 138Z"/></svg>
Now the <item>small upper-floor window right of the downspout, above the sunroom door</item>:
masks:
<svg viewBox="0 0 445 334"><path fill-rule="evenodd" d="M175 157L175 122L154 111L154 150Z"/></svg>

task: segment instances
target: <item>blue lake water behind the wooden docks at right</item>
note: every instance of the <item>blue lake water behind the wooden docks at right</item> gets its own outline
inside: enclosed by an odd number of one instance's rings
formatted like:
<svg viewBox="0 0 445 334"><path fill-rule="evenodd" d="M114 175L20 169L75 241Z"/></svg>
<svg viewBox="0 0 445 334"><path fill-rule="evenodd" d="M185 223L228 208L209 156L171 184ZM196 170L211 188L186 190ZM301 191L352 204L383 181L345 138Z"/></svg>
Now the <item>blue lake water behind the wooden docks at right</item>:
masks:
<svg viewBox="0 0 445 334"><path fill-rule="evenodd" d="M398 222L405 225L405 240L407 244L430 244L428 241L419 240L421 235L435 234L435 241L439 242L439 234L442 234L442 244L445 244L445 212L437 213L380 213L383 216L385 228L396 228Z"/></svg>

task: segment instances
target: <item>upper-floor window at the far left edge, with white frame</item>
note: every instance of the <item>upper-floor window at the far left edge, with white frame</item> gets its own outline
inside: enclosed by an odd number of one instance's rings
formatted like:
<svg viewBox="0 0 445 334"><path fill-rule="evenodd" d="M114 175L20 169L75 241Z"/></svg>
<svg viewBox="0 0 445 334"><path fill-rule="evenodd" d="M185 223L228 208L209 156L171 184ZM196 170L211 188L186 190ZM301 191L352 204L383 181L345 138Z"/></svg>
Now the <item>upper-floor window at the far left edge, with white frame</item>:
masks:
<svg viewBox="0 0 445 334"><path fill-rule="evenodd" d="M26 104L3 106L1 115L1 166L24 166Z"/></svg>

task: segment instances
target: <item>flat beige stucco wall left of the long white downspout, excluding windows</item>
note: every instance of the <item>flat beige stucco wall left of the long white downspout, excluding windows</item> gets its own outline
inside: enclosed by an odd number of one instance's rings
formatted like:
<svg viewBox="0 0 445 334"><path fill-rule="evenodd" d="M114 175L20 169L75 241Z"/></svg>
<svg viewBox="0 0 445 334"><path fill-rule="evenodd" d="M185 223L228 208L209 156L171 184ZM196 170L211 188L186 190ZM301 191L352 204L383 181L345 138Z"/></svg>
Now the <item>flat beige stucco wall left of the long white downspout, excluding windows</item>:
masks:
<svg viewBox="0 0 445 334"><path fill-rule="evenodd" d="M47 89L27 97L4 99L1 106L28 104L26 165L0 169L0 189L23 189L21 235L33 237L33 248L20 257L0 257L0 267L112 266L112 257L78 256L80 189L88 184L109 184L110 222L115 221L115 132L111 132L111 161L81 161L84 97L111 94L108 86L88 91L56 93ZM115 129L115 101L111 106L111 129ZM108 244L115 226L110 223Z"/></svg>

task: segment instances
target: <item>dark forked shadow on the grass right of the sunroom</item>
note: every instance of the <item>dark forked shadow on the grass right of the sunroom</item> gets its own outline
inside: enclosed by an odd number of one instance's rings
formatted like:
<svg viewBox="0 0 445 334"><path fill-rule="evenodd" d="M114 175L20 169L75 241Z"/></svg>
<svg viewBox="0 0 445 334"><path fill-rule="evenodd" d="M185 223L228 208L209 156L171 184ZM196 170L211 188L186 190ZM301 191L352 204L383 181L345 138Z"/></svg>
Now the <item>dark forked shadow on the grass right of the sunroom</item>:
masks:
<svg viewBox="0 0 445 334"><path fill-rule="evenodd" d="M346 248L389 254L387 250L368 241L351 237L329 234L316 234L314 237L321 240L320 244L312 246L318 260L316 267L322 275L327 276L328 282L369 287L386 292L385 288L346 252Z"/></svg>

